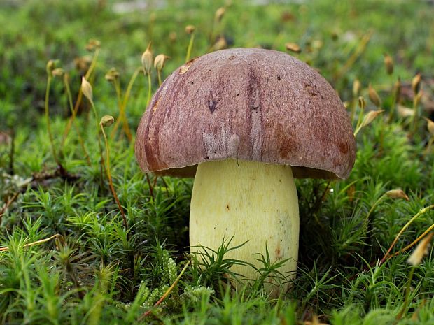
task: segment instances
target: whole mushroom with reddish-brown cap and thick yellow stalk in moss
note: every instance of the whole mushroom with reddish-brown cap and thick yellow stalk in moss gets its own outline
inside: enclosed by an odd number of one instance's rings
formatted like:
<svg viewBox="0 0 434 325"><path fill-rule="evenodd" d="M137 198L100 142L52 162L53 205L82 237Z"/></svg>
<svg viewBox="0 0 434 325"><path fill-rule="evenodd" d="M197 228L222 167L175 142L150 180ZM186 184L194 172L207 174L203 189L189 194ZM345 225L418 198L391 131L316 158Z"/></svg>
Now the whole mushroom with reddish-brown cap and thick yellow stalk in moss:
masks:
<svg viewBox="0 0 434 325"><path fill-rule="evenodd" d="M217 250L295 276L299 212L293 178L346 178L356 143L342 101L314 69L274 50L236 48L190 60L154 94L137 131L141 169L195 177L190 250ZM196 171L197 169L197 171ZM234 266L248 279L254 268ZM273 284L267 290L273 291ZM288 288L285 284L284 289Z"/></svg>

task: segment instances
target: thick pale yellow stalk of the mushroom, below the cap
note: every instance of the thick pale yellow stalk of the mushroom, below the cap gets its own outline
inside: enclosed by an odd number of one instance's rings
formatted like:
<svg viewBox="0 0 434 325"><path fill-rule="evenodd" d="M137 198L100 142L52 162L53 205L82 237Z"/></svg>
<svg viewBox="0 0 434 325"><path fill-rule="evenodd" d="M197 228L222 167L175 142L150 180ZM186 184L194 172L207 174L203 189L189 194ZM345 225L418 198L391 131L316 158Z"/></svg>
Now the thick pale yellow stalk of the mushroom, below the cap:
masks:
<svg viewBox="0 0 434 325"><path fill-rule="evenodd" d="M199 164L190 208L190 246L217 250L223 238L231 247L248 242L225 258L240 259L262 268L259 254L272 262L288 259L279 271L294 277L298 257L297 189L290 166L257 161L207 161ZM248 266L231 269L246 279L259 273ZM283 289L287 289L285 284ZM269 292L276 288L267 285Z"/></svg>

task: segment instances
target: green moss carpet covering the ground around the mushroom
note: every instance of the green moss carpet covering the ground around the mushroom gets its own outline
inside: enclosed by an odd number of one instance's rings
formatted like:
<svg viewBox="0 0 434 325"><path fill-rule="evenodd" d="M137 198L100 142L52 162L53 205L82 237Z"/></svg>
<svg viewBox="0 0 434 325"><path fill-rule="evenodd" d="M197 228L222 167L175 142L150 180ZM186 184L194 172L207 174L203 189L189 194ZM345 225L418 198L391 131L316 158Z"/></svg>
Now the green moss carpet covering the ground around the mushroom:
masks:
<svg viewBox="0 0 434 325"><path fill-rule="evenodd" d="M94 103L99 115L117 120L116 90L105 73L112 66L120 71L124 93L141 66L141 53L153 41L154 55L171 57L162 71L167 77L186 57L187 24L197 28L193 56L209 51L220 35L231 47L285 50L286 42L298 43L302 52L296 56L321 70L344 101L356 102L359 94L353 98L352 83L358 78L365 110L377 109L367 96L371 84L385 112L358 133L356 165L348 180L296 181L300 261L288 293L270 300L263 278L231 291L227 273L244 262L225 258L225 252L235 248L222 241L202 265L188 266L143 324L300 324L312 315L334 325L433 324L432 250L414 269L409 308L400 320L396 317L405 305L412 268L406 260L412 250L379 263L400 229L433 201L434 154L426 152L430 134L421 118L429 117L428 105L423 101L421 117L413 125L411 117L397 116L391 93L400 77L407 90L402 91L401 104L412 107L409 82L420 71L423 91L433 99L433 7L423 1L270 1L267 6L232 1L213 30L214 11L225 1L211 6L204 0L162 1L166 6L132 13L115 13L116 2L0 4L0 132L14 134L13 156L10 143L0 140L0 246L9 248L0 252L0 324L137 324L190 258L186 252L193 181L151 176L148 182L134 158L134 130L146 106L144 75L134 82L127 104L133 141L120 136L119 129L109 136L113 184L127 212L129 231L106 178L100 178L98 130L87 101L80 105L77 128L62 146L70 110L62 79L53 78L50 118L55 147L68 172L63 178L52 158L43 116L49 59L59 59L58 65L69 73L75 103L83 71L74 59L92 57L93 52L85 50L90 38L101 41L90 78ZM361 40L371 31L364 48ZM384 52L395 62L393 75L386 74ZM354 53L358 55L348 64ZM152 87L153 92L158 87L155 73ZM354 127L360 108L355 112ZM397 188L409 201L384 197ZM420 215L392 252L433 224L433 212ZM278 274L267 256L259 259L264 274Z"/></svg>

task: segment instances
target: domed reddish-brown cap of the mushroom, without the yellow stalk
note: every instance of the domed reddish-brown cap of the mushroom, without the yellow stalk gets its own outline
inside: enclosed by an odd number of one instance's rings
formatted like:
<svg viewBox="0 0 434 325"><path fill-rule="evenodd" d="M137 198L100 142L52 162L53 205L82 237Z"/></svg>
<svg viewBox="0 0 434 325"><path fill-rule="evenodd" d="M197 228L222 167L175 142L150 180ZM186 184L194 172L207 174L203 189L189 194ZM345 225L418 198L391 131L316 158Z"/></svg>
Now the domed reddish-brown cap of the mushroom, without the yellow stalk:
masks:
<svg viewBox="0 0 434 325"><path fill-rule="evenodd" d="M195 175L204 161L293 166L296 178L346 178L356 143L342 101L313 68L274 50L236 48L190 60L141 118L144 172Z"/></svg>

